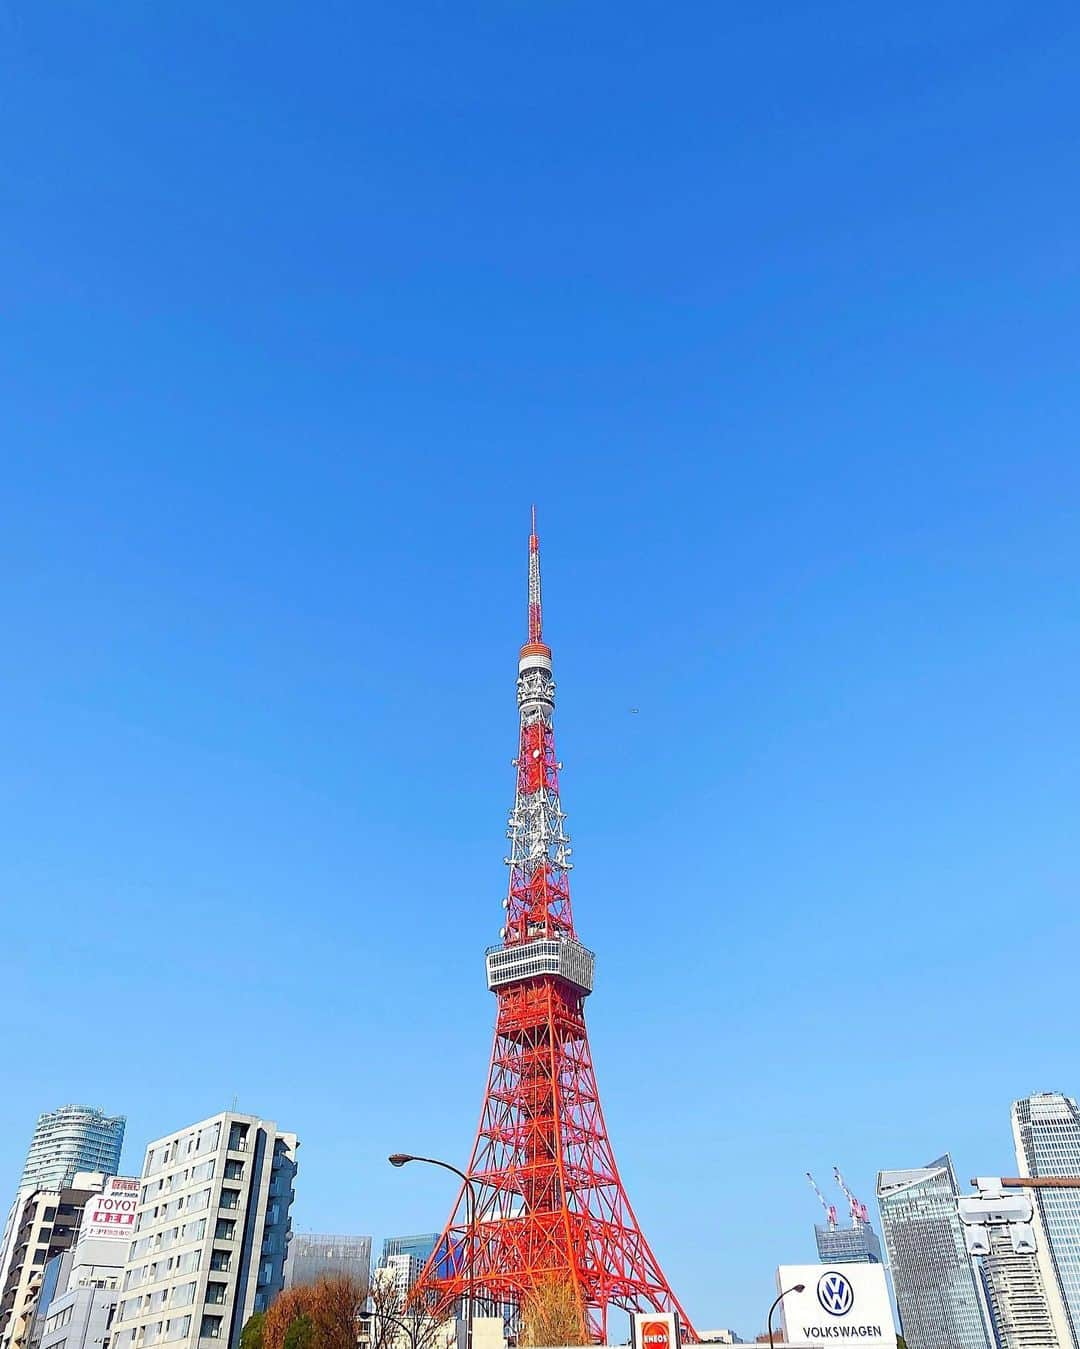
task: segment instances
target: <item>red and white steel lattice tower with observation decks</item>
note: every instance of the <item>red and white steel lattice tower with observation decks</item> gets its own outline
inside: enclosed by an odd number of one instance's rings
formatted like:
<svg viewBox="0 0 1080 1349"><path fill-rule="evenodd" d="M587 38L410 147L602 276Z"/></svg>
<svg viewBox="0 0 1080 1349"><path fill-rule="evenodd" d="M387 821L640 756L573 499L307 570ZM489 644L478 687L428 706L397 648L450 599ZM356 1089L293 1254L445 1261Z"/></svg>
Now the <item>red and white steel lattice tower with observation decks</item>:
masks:
<svg viewBox="0 0 1080 1349"><path fill-rule="evenodd" d="M608 1309L674 1311L671 1292L630 1206L608 1141L585 1031L595 958L570 911L570 840L551 726L556 684L541 622L535 511L529 537L529 641L518 661L518 789L508 820L510 886L502 944L487 952L498 1000L495 1047L468 1174L476 1190L469 1261L468 1194L458 1195L417 1296L441 1313L472 1287L477 1309L520 1306L551 1278L569 1280L591 1333Z"/></svg>

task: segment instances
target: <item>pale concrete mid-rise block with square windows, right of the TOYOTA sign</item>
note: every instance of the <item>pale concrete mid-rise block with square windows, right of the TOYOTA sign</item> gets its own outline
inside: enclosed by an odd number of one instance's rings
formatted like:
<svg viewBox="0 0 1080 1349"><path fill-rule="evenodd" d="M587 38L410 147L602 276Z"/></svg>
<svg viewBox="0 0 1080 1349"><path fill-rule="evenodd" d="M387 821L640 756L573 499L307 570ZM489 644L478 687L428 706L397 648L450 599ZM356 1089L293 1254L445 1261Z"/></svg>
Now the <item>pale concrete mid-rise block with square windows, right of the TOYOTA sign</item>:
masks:
<svg viewBox="0 0 1080 1349"><path fill-rule="evenodd" d="M231 1110L150 1144L111 1349L237 1349L284 1287L297 1147Z"/></svg>

